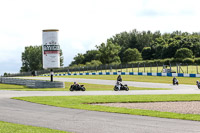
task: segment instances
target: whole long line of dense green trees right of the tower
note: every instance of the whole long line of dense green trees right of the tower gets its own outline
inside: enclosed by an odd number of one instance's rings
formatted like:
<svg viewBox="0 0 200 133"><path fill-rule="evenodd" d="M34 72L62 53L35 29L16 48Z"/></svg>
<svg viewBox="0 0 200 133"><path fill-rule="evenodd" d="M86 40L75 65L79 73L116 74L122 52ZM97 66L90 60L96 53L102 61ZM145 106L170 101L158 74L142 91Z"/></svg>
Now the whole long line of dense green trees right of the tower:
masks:
<svg viewBox="0 0 200 133"><path fill-rule="evenodd" d="M200 33L122 32L94 50L78 53L70 66L125 64L135 61L200 57Z"/></svg>

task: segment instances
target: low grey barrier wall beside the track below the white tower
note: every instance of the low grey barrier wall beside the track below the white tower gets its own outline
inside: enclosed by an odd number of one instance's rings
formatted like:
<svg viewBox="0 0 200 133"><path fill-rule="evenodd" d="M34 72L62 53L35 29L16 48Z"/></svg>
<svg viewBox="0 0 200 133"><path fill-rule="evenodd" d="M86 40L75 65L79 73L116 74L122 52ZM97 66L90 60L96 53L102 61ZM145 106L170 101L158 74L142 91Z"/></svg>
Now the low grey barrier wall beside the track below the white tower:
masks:
<svg viewBox="0 0 200 133"><path fill-rule="evenodd" d="M49 82L49 81L43 81L43 80L28 80L28 79L1 77L0 83L25 85L29 88L65 88L64 82L57 82L57 81Z"/></svg>

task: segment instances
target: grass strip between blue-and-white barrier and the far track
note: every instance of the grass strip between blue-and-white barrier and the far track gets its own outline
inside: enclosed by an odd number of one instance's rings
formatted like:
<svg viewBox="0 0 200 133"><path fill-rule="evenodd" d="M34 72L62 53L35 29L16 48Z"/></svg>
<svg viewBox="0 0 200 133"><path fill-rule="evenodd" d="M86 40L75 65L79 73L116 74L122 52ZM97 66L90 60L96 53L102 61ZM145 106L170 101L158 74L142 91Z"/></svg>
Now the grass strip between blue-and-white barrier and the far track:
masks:
<svg viewBox="0 0 200 133"><path fill-rule="evenodd" d="M104 79L116 80L117 75L71 75L71 76L56 76L64 78L84 78L84 79ZM122 75L123 81L136 81L136 82L152 82L152 83L169 83L172 84L173 77L167 76L140 76L140 75ZM192 77L177 77L180 84L196 85L196 80L200 78Z"/></svg>

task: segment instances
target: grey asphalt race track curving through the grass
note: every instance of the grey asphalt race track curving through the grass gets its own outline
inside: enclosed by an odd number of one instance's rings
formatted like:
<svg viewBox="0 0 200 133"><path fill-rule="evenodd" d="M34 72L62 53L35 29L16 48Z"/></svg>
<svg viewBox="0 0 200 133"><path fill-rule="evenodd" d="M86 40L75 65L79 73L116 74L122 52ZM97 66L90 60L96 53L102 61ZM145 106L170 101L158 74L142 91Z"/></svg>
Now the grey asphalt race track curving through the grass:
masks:
<svg viewBox="0 0 200 133"><path fill-rule="evenodd" d="M44 79L44 78L43 78ZM48 78L49 79L49 78ZM54 78L57 81L111 84L115 81ZM195 85L124 82L129 86L172 88L172 90L142 91L0 91L0 121L47 127L77 133L199 133L200 122L128 114L87 111L40 105L10 99L20 96L70 95L142 95L142 94L200 94ZM151 87L152 87L151 86Z"/></svg>

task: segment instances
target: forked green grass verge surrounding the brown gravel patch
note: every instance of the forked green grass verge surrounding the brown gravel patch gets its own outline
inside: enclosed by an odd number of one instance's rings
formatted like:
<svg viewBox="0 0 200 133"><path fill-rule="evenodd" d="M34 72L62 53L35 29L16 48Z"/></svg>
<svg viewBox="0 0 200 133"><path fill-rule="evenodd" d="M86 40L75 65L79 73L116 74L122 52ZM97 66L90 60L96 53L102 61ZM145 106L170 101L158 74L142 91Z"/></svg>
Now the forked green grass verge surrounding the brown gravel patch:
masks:
<svg viewBox="0 0 200 133"><path fill-rule="evenodd" d="M119 107L107 107L91 105L91 103L134 103L134 102L172 102L172 101L200 101L199 94L179 95L110 95L110 96L48 96L48 97L17 97L14 99L24 100L39 104L52 105L57 107L104 111L112 113L124 113L131 115L143 115L152 117L184 119L200 121L200 115L179 114L172 112L160 112L142 109L128 109Z"/></svg>

